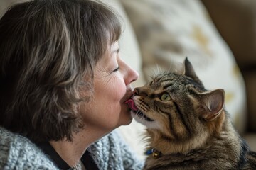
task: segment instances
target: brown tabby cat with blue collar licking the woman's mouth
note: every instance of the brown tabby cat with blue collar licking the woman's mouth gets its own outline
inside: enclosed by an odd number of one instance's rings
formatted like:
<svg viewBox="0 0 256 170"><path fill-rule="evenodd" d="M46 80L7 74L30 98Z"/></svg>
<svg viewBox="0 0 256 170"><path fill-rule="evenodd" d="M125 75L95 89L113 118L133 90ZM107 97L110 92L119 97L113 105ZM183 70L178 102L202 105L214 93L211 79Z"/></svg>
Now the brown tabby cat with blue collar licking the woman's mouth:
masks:
<svg viewBox="0 0 256 170"><path fill-rule="evenodd" d="M256 153L225 111L223 89L206 90L188 59L183 68L134 89L129 106L149 142L144 169L256 169Z"/></svg>

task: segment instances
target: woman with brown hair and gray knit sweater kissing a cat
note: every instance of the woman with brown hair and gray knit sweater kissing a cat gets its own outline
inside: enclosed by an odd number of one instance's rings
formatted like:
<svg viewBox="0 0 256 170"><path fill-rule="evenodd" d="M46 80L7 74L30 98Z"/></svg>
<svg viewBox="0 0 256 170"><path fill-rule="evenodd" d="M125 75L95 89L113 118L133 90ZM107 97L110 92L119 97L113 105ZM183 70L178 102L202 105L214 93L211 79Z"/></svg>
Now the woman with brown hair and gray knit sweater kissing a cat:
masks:
<svg viewBox="0 0 256 170"><path fill-rule="evenodd" d="M121 26L82 0L16 4L0 20L0 169L141 169L112 132L138 78Z"/></svg>

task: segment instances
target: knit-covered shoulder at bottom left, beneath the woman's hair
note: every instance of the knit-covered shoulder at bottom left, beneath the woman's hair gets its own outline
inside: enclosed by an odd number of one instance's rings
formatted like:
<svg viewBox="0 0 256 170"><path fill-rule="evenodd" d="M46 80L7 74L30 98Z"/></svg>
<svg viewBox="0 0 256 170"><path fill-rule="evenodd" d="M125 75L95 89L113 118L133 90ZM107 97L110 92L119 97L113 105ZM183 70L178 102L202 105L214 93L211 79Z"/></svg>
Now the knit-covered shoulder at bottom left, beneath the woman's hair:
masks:
<svg viewBox="0 0 256 170"><path fill-rule="evenodd" d="M57 169L36 145L0 127L0 169Z"/></svg>

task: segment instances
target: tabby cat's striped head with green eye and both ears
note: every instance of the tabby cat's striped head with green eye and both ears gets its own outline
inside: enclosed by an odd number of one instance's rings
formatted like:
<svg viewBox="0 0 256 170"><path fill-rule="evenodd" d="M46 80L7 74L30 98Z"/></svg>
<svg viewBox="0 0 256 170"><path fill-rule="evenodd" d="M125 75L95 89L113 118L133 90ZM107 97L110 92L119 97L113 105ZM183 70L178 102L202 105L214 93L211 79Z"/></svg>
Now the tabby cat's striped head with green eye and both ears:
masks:
<svg viewBox="0 0 256 170"><path fill-rule="evenodd" d="M133 96L138 108L134 119L174 141L217 132L224 119L220 118L223 89L207 91L187 58L183 68L183 74L156 75L149 84L135 88Z"/></svg>

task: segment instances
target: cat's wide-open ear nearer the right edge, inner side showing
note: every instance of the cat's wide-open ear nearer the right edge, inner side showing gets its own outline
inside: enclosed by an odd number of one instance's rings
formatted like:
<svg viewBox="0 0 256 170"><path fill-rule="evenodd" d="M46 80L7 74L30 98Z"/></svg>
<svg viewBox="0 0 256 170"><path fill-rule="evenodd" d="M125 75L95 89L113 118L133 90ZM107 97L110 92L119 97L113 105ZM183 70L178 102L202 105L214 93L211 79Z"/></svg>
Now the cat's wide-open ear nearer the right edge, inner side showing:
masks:
<svg viewBox="0 0 256 170"><path fill-rule="evenodd" d="M223 89L208 91L200 95L198 113L204 120L214 120L223 111L225 103L225 92Z"/></svg>

